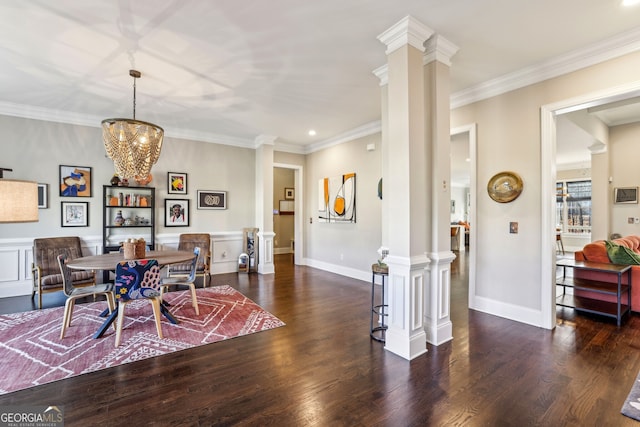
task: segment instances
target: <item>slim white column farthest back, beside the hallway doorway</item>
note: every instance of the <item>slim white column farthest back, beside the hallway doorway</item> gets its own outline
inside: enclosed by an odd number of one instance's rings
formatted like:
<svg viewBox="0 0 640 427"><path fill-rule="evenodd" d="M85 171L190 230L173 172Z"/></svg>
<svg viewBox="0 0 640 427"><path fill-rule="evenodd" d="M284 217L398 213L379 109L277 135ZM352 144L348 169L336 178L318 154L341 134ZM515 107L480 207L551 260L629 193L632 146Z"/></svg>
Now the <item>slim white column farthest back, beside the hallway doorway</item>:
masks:
<svg viewBox="0 0 640 427"><path fill-rule="evenodd" d="M273 274L273 145L275 136L256 138L256 227L258 273Z"/></svg>

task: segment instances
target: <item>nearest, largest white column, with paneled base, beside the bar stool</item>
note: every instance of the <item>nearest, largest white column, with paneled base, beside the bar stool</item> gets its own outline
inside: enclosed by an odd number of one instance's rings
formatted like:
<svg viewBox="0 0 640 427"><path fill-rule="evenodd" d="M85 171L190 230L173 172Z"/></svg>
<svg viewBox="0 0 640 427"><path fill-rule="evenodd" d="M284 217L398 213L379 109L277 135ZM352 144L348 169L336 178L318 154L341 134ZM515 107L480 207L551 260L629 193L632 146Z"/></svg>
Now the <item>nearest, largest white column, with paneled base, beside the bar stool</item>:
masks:
<svg viewBox="0 0 640 427"><path fill-rule="evenodd" d="M382 111L383 132L387 130L382 137L382 244L389 248L385 349L408 360L427 351L424 291L430 262L430 209L423 53L424 42L432 34L407 16L378 36L387 46L383 90L387 105Z"/></svg>

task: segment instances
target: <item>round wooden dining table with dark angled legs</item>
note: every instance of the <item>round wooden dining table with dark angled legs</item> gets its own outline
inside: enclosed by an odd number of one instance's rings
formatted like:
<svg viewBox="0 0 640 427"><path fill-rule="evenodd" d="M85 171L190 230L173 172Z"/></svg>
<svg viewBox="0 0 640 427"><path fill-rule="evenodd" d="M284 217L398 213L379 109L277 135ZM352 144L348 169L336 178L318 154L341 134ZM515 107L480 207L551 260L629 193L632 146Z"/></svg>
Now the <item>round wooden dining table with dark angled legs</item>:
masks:
<svg viewBox="0 0 640 427"><path fill-rule="evenodd" d="M167 251L146 251L144 259L155 259L158 261L158 265L160 268L165 265L170 264L181 264L187 261L191 261L194 257L193 252L191 251L176 251L176 250L167 250ZM142 259L142 258L141 258ZM135 259L125 259L124 255L120 252L108 253L108 254L100 254L100 255L89 255L85 257L75 258L69 260L67 266L71 269L75 270L103 270L103 271L114 271L116 269L116 265L121 261L135 261ZM178 319L176 319L173 314L169 311L167 306L169 303L162 302L160 304L160 311L162 314L174 324L178 323ZM105 310L101 316L107 316L104 323L100 326L100 328L93 335L93 338L97 339L102 337L105 331L111 326L118 317L118 305L116 305L115 309L109 314L108 310Z"/></svg>

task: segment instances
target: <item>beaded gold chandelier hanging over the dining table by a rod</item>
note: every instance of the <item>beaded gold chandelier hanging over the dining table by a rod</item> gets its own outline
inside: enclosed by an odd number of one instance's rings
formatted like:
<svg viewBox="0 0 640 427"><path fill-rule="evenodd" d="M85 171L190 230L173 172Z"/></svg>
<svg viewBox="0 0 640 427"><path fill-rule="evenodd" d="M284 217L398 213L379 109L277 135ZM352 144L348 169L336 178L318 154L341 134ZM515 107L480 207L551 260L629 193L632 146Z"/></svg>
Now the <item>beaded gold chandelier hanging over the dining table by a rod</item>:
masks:
<svg viewBox="0 0 640 427"><path fill-rule="evenodd" d="M129 75L133 77L133 119L103 120L102 140L119 177L144 179L160 157L164 129L136 120L136 79L142 74L129 70Z"/></svg>

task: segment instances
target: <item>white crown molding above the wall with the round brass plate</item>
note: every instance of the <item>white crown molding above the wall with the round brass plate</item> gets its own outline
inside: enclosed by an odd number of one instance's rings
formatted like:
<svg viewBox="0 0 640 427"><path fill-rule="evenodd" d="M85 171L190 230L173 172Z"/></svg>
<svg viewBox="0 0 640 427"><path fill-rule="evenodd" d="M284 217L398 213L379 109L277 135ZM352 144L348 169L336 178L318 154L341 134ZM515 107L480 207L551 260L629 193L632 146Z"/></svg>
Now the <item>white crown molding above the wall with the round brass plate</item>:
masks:
<svg viewBox="0 0 640 427"><path fill-rule="evenodd" d="M640 27L451 95L451 108L501 95L640 50Z"/></svg>

